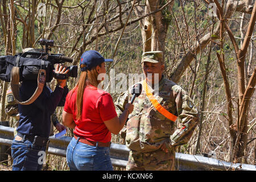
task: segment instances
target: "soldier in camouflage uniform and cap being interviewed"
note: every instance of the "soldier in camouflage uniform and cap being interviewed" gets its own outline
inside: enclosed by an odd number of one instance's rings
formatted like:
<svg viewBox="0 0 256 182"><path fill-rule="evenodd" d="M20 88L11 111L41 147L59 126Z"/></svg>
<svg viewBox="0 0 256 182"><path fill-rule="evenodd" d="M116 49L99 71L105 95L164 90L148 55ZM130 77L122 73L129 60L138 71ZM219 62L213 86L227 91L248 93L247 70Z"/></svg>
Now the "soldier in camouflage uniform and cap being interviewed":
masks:
<svg viewBox="0 0 256 182"><path fill-rule="evenodd" d="M185 91L162 75L162 51L144 52L142 57L143 73L147 80L144 83L147 83L148 90L158 104L177 119L171 121L160 113L148 98L143 86L141 95L133 103L134 110L129 115L130 119L121 131L123 138L126 131L125 142L130 149L126 170L174 170L175 148L191 138L199 121L199 113ZM152 73L152 77L158 73L158 80L148 77L148 73ZM143 81L140 83L143 85ZM158 87L154 86L156 84ZM118 115L123 112L130 99L129 91L117 98L115 107Z"/></svg>

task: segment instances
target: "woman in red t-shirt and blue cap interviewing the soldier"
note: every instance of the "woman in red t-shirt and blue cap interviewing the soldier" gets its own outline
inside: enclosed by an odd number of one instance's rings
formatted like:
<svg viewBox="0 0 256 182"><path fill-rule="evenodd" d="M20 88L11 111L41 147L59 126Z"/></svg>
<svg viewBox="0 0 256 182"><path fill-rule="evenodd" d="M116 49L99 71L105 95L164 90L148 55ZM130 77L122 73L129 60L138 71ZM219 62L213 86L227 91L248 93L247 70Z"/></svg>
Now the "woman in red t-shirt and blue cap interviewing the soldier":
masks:
<svg viewBox="0 0 256 182"><path fill-rule="evenodd" d="M98 76L106 73L104 59L97 51L86 51L80 60L81 75L75 88L68 93L63 123L74 130L67 148L67 163L71 170L113 170L109 147L111 133L118 134L133 111L127 104L117 117L112 97L98 89Z"/></svg>

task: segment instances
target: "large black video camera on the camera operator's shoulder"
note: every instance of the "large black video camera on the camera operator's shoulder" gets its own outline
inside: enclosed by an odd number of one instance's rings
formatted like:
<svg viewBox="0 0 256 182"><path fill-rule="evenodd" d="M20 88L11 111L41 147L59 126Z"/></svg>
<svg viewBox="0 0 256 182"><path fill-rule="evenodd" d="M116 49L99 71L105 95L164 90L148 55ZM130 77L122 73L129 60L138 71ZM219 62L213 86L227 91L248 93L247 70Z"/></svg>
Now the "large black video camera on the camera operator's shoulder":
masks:
<svg viewBox="0 0 256 182"><path fill-rule="evenodd" d="M37 80L39 69L46 70L46 82L50 82L53 77L60 80L77 77L76 65L67 67L67 74L54 73L54 64L72 63L73 59L63 54L49 54L51 48L48 47L54 45L53 40L40 39L39 43L42 47L46 46L46 49L31 49L15 56L0 56L0 79L10 82L13 67L19 67L19 81Z"/></svg>

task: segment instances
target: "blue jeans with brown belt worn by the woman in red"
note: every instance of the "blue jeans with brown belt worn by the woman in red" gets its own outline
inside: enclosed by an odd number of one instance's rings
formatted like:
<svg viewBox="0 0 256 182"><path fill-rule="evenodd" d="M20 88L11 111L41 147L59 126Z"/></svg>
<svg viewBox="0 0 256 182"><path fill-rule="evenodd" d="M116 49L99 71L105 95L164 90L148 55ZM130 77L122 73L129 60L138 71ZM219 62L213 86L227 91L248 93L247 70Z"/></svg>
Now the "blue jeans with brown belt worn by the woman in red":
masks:
<svg viewBox="0 0 256 182"><path fill-rule="evenodd" d="M73 137L67 148L71 171L113 171L109 147L90 146Z"/></svg>

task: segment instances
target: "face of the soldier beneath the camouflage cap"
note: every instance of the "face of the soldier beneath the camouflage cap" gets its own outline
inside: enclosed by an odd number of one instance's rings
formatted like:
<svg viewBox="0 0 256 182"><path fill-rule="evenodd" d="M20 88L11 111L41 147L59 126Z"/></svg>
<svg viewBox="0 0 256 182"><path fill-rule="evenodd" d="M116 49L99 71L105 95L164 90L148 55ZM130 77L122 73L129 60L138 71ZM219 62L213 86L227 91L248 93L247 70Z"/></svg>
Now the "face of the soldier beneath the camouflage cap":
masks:
<svg viewBox="0 0 256 182"><path fill-rule="evenodd" d="M147 78L147 81L154 84L155 82L161 80L164 71L164 65L161 63L144 62L142 63L142 69Z"/></svg>

